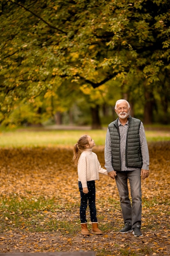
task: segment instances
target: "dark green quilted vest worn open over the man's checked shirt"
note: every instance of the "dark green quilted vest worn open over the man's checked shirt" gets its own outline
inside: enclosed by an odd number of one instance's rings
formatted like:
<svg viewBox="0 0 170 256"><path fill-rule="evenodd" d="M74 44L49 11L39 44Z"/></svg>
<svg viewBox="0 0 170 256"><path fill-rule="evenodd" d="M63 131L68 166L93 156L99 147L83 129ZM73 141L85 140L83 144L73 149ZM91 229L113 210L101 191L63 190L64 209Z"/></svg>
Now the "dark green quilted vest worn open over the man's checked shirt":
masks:
<svg viewBox="0 0 170 256"><path fill-rule="evenodd" d="M129 116L128 131L125 149L125 161L127 167L142 167L142 155L139 140L139 127L141 121ZM118 118L108 125L110 130L112 165L115 171L121 171L120 164L120 139Z"/></svg>

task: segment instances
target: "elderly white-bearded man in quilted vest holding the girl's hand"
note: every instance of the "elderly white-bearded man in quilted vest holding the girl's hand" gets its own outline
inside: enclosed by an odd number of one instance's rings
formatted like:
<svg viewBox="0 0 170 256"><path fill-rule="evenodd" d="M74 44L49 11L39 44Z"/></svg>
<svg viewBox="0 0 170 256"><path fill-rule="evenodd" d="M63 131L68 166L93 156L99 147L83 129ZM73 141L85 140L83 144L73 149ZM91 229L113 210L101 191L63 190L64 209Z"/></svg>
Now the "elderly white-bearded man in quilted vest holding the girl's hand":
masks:
<svg viewBox="0 0 170 256"><path fill-rule="evenodd" d="M105 168L116 180L124 227L121 233L141 233L141 179L149 175L149 152L143 123L130 116L128 101L115 104L118 118L108 125L105 142ZM129 199L128 180L132 204Z"/></svg>

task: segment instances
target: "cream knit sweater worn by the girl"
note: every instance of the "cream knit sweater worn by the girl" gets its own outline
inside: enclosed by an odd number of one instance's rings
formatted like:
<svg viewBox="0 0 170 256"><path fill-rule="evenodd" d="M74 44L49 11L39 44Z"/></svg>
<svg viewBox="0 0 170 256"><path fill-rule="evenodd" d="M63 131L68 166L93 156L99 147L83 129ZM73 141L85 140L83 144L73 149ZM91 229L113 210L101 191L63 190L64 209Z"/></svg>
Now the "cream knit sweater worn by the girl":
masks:
<svg viewBox="0 0 170 256"><path fill-rule="evenodd" d="M92 149L85 149L82 152L77 163L77 171L83 188L87 187L87 181L99 180L99 173L108 175L107 171L101 167L97 155L92 152Z"/></svg>

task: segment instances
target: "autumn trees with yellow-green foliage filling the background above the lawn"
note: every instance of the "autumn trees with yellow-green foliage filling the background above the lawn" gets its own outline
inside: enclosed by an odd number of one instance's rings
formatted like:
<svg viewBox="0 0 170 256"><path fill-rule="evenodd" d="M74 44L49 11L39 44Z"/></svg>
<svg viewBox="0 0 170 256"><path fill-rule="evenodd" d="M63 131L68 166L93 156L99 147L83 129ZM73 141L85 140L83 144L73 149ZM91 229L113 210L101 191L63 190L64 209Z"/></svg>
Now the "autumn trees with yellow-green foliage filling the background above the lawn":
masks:
<svg viewBox="0 0 170 256"><path fill-rule="evenodd" d="M168 0L1 0L0 123L170 123Z"/></svg>

